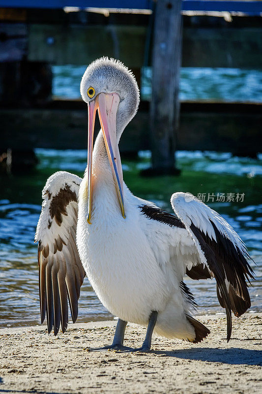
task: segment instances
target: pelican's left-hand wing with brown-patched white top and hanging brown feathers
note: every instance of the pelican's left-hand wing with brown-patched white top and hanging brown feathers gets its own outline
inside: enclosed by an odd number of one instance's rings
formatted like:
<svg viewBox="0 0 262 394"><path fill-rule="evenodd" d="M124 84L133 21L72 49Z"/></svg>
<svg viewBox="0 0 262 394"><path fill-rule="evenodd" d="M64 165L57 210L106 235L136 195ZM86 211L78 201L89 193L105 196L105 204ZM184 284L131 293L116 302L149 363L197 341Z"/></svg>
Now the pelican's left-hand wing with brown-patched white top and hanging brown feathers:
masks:
<svg viewBox="0 0 262 394"><path fill-rule="evenodd" d="M69 172L53 174L43 189L42 211L37 224L41 323L47 315L48 332L57 335L78 315L78 298L85 270L76 246L77 198L82 179Z"/></svg>

